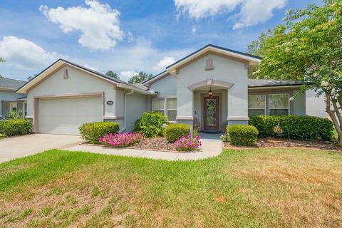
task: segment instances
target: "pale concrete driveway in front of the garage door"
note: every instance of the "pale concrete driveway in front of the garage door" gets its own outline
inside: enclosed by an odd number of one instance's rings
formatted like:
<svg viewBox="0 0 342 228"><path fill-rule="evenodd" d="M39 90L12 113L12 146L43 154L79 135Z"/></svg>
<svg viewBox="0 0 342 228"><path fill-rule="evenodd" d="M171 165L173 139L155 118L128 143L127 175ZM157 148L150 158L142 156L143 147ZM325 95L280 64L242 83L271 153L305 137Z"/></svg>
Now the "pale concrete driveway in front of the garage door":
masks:
<svg viewBox="0 0 342 228"><path fill-rule="evenodd" d="M66 149L83 142L75 135L33 134L0 139L0 162L50 149Z"/></svg>

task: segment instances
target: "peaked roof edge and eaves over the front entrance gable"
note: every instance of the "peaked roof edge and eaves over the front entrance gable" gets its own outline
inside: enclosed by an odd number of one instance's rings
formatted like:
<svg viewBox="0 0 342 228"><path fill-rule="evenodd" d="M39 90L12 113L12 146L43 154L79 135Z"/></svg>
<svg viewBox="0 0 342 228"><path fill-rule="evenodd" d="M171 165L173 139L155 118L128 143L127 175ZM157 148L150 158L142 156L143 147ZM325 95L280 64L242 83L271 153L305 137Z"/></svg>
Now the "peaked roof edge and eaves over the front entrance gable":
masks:
<svg viewBox="0 0 342 228"><path fill-rule="evenodd" d="M257 66L258 63L261 62L261 57L259 56L253 56L248 53L243 53L240 51L235 51L228 48L222 48L220 46L214 46L212 44L208 44L207 46L204 46L203 48L199 48L197 51L190 53L190 55L185 56L184 58L181 58L179 61L176 61L175 63L172 63L170 66L166 67L166 70L171 74L177 73L177 68L180 68L181 66L202 57L206 53L217 53L221 54L230 58L234 58L238 61L243 61L244 63L247 63L248 67Z"/></svg>

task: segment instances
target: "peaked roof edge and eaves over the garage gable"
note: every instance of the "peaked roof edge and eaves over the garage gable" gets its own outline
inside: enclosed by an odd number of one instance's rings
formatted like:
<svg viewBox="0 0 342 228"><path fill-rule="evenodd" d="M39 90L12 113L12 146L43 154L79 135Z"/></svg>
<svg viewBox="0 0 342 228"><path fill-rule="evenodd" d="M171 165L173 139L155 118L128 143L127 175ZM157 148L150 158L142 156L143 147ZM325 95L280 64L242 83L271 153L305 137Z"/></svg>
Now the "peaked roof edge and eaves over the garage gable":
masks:
<svg viewBox="0 0 342 228"><path fill-rule="evenodd" d="M40 81L43 81L46 77L50 76L50 74L53 73L53 71L56 71L58 68L62 67L63 65L73 66L73 67L78 68L78 69L80 69L82 71L86 71L86 72L92 74L93 76L98 76L100 78L105 79L106 81L109 81L111 83L115 83L115 85L117 87L119 87L119 88L125 88L125 89L135 90L135 91L137 91L139 93L150 94L147 90L144 90L144 89L142 89L142 88L140 88L138 86L135 86L135 85L133 85L131 83L127 83L125 81L121 81L119 79L107 76L104 73L100 73L98 71L94 71L94 70L92 70L90 68L86 68L86 67L78 65L76 63L72 63L70 61L66 61L66 60L64 60L62 58L60 58L56 62L52 63L46 69L41 71L41 73L38 73L38 75L35 76L34 78L32 78L30 81L28 81L28 83L26 83L24 86L21 86L21 88L19 88L17 90L17 92L18 93L26 93L27 90L29 90L30 88L35 86Z"/></svg>

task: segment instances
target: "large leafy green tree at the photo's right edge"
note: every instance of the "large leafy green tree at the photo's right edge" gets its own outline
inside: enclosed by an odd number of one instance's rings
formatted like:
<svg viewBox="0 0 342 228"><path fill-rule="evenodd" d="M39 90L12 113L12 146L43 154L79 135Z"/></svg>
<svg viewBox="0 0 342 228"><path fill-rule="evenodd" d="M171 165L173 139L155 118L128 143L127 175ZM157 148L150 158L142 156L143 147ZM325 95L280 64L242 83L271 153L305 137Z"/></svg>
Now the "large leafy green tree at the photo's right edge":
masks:
<svg viewBox="0 0 342 228"><path fill-rule="evenodd" d="M284 21L249 45L263 56L251 77L301 80L302 91L324 95L342 145L342 0L288 10Z"/></svg>

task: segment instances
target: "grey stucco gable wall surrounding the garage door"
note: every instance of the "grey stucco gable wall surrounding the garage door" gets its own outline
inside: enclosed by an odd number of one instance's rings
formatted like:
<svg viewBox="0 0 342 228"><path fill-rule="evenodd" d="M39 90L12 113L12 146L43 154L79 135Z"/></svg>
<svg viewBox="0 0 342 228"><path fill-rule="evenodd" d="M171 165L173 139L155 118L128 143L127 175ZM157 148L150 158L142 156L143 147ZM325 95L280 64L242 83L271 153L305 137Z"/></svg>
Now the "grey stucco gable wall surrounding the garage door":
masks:
<svg viewBox="0 0 342 228"><path fill-rule="evenodd" d="M63 78L63 69L68 68L68 78ZM73 67L65 66L52 76L46 78L38 86L34 87L27 95L27 112L33 115L33 97L40 95L61 95L68 93L104 93L105 102L115 102L115 89L112 83L91 76L89 73ZM105 103L105 115L115 116L115 106Z"/></svg>

